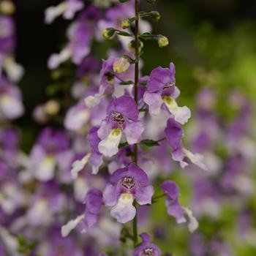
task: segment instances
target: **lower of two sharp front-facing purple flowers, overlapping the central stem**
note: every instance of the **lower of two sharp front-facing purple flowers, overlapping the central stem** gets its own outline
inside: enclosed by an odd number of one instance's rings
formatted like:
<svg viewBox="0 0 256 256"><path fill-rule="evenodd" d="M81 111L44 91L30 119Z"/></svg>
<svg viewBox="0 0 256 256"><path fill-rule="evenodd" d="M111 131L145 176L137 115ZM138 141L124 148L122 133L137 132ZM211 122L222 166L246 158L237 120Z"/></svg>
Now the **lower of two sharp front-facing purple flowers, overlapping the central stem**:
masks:
<svg viewBox="0 0 256 256"><path fill-rule="evenodd" d="M135 217L136 209L132 205L151 204L154 188L148 185L148 176L135 164L116 170L110 177L103 192L105 206L113 206L110 214L120 223L126 223Z"/></svg>

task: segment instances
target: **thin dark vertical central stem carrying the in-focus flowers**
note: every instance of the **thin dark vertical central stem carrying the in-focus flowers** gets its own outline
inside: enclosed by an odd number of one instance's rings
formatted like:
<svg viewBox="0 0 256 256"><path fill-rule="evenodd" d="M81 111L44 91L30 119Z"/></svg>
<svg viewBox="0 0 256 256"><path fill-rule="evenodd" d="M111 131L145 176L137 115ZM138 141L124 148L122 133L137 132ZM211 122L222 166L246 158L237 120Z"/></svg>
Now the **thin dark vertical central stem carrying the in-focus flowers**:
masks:
<svg viewBox="0 0 256 256"><path fill-rule="evenodd" d="M138 80L139 80L139 0L135 0L135 102L138 104ZM134 162L138 164L138 144L134 145ZM137 203L134 203L137 210ZM134 247L138 244L138 225L137 225L137 214L133 219L133 243Z"/></svg>

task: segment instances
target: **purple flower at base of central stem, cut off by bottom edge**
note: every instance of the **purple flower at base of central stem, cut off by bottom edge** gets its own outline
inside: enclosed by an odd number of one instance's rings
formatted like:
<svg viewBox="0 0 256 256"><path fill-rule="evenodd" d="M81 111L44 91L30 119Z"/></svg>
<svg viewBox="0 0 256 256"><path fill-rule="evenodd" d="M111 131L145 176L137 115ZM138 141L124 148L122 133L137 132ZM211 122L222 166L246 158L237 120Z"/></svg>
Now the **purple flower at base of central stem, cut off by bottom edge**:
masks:
<svg viewBox="0 0 256 256"><path fill-rule="evenodd" d="M132 252L134 256L161 256L162 252L156 244L150 242L150 236L147 233L140 234L142 244L135 248Z"/></svg>

